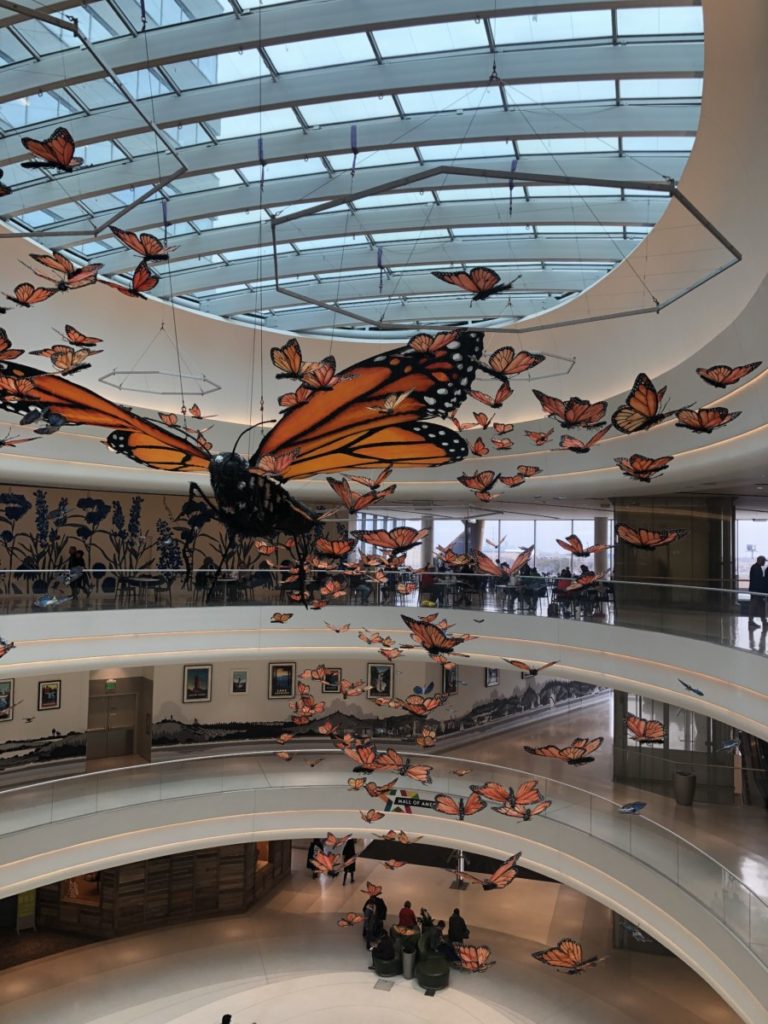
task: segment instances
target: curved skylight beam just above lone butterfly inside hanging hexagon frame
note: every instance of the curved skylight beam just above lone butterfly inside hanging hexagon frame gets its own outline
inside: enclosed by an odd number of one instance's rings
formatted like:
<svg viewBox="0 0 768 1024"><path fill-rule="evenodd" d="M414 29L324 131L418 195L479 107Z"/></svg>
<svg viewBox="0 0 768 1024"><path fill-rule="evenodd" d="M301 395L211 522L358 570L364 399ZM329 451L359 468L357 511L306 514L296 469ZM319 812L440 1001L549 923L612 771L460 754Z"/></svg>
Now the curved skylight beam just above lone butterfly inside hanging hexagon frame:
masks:
<svg viewBox="0 0 768 1024"><path fill-rule="evenodd" d="M449 266L463 260L468 266L489 263L493 266L520 262L552 263L616 263L637 245L633 239L603 239L561 236L556 239L520 238L462 239L456 242L392 242L384 247L384 262L388 269L406 266ZM131 257L129 257L129 260ZM284 280L308 274L330 274L342 266L345 270L376 270L376 249L368 245L335 246L332 249L311 249L302 253L286 253L280 257ZM271 251L253 259L232 263L213 263L188 270L173 270L164 274L153 295L162 298L208 291L212 288L234 287L272 275ZM526 271L527 272L527 271ZM564 289L558 289L564 291Z"/></svg>

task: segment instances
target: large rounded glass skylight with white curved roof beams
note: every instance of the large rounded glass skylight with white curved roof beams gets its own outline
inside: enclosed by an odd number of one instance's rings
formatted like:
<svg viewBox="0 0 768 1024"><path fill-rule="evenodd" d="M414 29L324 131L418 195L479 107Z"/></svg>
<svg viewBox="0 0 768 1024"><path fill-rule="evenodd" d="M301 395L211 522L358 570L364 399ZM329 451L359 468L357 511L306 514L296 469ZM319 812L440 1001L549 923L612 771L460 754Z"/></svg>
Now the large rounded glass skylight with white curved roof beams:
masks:
<svg viewBox="0 0 768 1024"><path fill-rule="evenodd" d="M275 290L270 218L338 204L279 232L280 280L302 294L444 323L466 295L431 270L493 261L514 290L473 315L516 321L645 238L667 197L613 182L679 180L698 124L701 10L681 0L163 0L145 33L132 0L54 9L0 28L6 221L113 274L135 260L110 224L166 230L177 251L157 295L290 332L360 324ZM59 125L85 166L30 174L20 139ZM513 162L563 180L511 196L508 177L468 171L388 184Z"/></svg>

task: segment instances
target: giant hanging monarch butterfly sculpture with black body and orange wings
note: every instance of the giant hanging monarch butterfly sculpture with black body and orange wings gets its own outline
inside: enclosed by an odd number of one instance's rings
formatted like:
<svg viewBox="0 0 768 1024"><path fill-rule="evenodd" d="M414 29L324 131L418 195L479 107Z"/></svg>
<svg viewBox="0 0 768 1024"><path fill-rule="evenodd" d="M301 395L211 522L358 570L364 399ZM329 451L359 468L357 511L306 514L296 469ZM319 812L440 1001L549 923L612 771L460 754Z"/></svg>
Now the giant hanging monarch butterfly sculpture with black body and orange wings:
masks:
<svg viewBox="0 0 768 1024"><path fill-rule="evenodd" d="M195 432L138 416L69 379L7 358L0 359L0 408L26 422L42 419L51 429L105 427L112 431L108 447L153 469L207 470L215 503L197 484L190 495L202 497L232 534L303 537L316 517L284 481L356 467L439 466L467 455L459 434L428 421L464 401L481 356L482 334L449 332L424 349L409 344L364 359L333 387L307 388L307 400L283 415L250 460L238 454L237 442L234 451L211 456ZM371 416L372 402L406 391L407 404L386 417ZM258 469L265 460L276 468Z"/></svg>

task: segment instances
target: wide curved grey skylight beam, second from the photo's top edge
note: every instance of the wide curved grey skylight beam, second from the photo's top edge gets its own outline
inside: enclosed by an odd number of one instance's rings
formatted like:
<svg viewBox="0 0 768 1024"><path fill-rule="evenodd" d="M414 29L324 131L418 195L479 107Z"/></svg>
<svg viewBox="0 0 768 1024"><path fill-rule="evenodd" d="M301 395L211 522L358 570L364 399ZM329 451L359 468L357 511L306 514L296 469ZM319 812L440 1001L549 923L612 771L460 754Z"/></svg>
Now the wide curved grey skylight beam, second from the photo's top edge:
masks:
<svg viewBox="0 0 768 1024"><path fill-rule="evenodd" d="M185 26L179 27L181 31ZM98 51L98 47L93 47ZM495 53L500 76L510 85L531 82L569 82L614 78L675 78L698 76L703 72L703 44L700 42L669 42L656 46L628 43L626 46L577 46L566 44L551 49L507 49ZM375 60L343 67L322 68L293 72L276 80L265 76L221 85L189 89L180 96L157 96L137 102L137 106L157 125L181 125L197 121L218 120L222 117L255 114L288 106L308 105L364 96L391 93L423 92L433 89L480 88L488 84L490 54L485 51L472 53L434 53L416 57L398 57L382 65ZM0 95L3 95L3 76L0 71ZM30 73L34 78L34 73ZM24 94L33 91L29 82ZM12 97L3 95L7 101ZM471 109L471 97L467 108ZM696 105L697 104L692 104ZM608 110L617 108L608 108ZM504 113L504 112L502 112ZM532 112L531 112L532 113ZM527 111L526 111L527 114ZM309 112L311 117L311 112ZM429 115L433 117L434 115ZM452 113L456 117L456 113ZM537 112L542 124L560 132L572 131L572 124L564 118L548 118L546 110ZM518 115L519 117L519 115ZM467 115L469 118L469 115ZM524 119L520 122L525 126ZM400 124L402 125L402 121ZM92 114L60 118L56 125L70 127L81 143L110 138L126 138L145 131L145 121L128 103L119 103ZM466 122L465 122L466 124ZM41 122L36 131L45 133L46 126L54 122ZM370 147L365 140L366 131L378 131L378 119L362 121L358 125L359 143ZM3 163L20 159L25 155L20 139L28 134L29 126L8 134L0 146ZM528 129L529 130L529 129ZM538 132L544 134L544 130ZM267 135L266 138L269 136ZM347 139L348 144L348 139ZM412 144L408 140L402 145Z"/></svg>

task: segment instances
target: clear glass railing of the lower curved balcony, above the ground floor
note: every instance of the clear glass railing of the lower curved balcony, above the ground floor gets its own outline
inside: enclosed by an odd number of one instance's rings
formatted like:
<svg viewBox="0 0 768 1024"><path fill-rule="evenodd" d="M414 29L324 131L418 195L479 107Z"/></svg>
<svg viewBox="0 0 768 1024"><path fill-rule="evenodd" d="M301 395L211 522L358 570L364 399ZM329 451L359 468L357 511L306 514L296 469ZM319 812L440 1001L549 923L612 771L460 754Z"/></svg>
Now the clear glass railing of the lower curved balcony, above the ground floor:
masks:
<svg viewBox="0 0 768 1024"><path fill-rule="evenodd" d="M307 786L344 788L352 772L352 763L327 746L303 748L290 763L276 760L274 753L263 751L257 754L214 755L191 761L167 761L4 790L0 792L3 834L7 840L14 833L68 818L82 818L89 813L114 812L129 806L202 794L290 791ZM318 757L314 758L314 755ZM313 767L308 766L308 756L317 762ZM419 753L418 761L427 762L432 768L429 786L418 785L407 778L398 781L416 791L423 801L432 800L438 793L454 795L458 799L460 794L455 771L460 767L470 769L478 783L493 779L505 786L517 787L527 779L537 778L543 796L552 802L545 814L528 823L520 823L495 814L488 806L469 820L508 833L510 852L516 842L524 839L526 829L530 829L529 835L541 842L541 829L547 821L566 825L609 844L692 896L768 967L768 903L728 867L669 828L642 815L622 814L617 804L588 790L503 765L424 753ZM466 798L466 785L462 786L462 795ZM352 809L359 806L360 810L377 803L365 790L350 791L349 802ZM286 810L290 809L290 798L284 806ZM428 814L440 817L428 806L421 805L414 810L417 816ZM398 824L403 823L407 823L406 819L400 818ZM418 817L410 817L408 823L412 829L418 830ZM377 824L375 827L378 829L381 826ZM72 842L76 840L73 835Z"/></svg>

